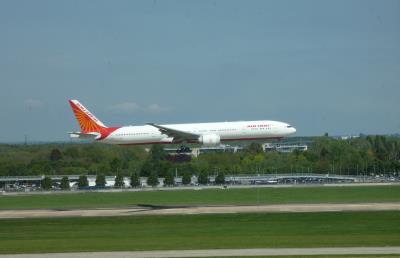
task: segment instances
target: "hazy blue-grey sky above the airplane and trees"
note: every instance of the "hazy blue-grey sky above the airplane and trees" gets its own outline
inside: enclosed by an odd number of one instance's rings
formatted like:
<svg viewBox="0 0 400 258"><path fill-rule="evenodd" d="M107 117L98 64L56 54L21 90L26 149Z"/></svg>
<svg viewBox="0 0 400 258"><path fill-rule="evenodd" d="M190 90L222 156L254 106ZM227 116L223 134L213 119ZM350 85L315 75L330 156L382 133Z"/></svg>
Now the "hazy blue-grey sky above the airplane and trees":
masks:
<svg viewBox="0 0 400 258"><path fill-rule="evenodd" d="M0 142L104 124L400 131L400 1L0 1Z"/></svg>

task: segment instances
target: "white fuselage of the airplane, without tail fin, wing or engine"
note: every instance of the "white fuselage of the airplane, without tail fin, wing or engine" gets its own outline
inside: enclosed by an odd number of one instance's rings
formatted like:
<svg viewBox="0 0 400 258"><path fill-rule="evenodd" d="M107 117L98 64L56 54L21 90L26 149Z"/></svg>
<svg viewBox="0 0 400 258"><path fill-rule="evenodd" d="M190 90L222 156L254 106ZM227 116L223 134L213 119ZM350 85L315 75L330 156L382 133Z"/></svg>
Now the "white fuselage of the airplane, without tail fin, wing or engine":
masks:
<svg viewBox="0 0 400 258"><path fill-rule="evenodd" d="M221 142L280 139L296 132L296 129L289 124L267 120L168 124L162 126L196 135L217 135ZM176 143L173 140L173 137L161 133L160 130L154 126L142 125L120 127L99 141L109 144Z"/></svg>

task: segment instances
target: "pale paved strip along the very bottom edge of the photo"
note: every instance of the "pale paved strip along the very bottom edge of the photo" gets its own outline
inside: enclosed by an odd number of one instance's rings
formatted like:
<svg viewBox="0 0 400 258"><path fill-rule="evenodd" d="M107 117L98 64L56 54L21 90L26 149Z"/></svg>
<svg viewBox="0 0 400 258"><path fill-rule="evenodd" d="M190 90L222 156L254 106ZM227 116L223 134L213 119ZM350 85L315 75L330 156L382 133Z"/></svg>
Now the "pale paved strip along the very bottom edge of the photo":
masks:
<svg viewBox="0 0 400 258"><path fill-rule="evenodd" d="M283 256L283 255L364 255L400 254L400 247L335 247L335 248L260 248L169 250L138 252L83 252L51 254L0 255L0 258L138 258L138 257L208 257L208 256Z"/></svg>

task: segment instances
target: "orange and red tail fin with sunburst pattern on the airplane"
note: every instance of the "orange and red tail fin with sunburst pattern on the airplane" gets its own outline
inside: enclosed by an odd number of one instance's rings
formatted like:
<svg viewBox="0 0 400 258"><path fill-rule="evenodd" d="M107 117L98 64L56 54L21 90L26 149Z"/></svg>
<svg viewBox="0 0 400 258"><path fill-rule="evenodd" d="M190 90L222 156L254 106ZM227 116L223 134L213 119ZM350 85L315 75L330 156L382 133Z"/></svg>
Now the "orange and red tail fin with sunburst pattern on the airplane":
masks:
<svg viewBox="0 0 400 258"><path fill-rule="evenodd" d="M69 100L69 104L81 128L81 133L99 133L107 128L107 126L90 113L79 101Z"/></svg>

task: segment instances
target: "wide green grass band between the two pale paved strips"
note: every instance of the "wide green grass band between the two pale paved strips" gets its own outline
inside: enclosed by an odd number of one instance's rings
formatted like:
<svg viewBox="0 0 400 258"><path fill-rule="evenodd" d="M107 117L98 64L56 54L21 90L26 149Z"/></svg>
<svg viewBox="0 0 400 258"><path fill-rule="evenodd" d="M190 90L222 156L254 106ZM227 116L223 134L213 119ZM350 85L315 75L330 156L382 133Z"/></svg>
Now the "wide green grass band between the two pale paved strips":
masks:
<svg viewBox="0 0 400 258"><path fill-rule="evenodd" d="M0 253L399 245L400 212L0 220Z"/></svg>

